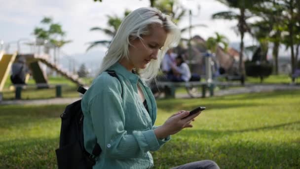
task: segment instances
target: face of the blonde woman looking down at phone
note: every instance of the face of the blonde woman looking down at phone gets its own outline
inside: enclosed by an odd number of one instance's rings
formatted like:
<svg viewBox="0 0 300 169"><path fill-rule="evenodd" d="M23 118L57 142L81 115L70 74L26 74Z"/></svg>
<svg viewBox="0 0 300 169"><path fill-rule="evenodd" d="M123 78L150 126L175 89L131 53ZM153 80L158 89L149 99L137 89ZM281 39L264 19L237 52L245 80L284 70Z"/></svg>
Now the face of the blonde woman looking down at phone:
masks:
<svg viewBox="0 0 300 169"><path fill-rule="evenodd" d="M130 41L129 60L124 65L128 70L133 68L145 69L152 59L157 59L158 50L163 46L167 38L167 32L160 25L150 28L150 35Z"/></svg>

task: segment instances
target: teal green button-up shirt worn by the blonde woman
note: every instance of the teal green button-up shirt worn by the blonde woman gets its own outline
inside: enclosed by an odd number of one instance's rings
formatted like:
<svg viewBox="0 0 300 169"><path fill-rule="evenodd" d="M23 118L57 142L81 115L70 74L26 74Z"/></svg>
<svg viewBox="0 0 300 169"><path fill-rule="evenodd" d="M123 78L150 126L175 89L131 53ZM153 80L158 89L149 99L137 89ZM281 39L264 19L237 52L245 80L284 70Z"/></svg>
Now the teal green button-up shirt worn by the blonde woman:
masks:
<svg viewBox="0 0 300 169"><path fill-rule="evenodd" d="M85 149L91 153L96 141L102 148L94 169L149 169L153 166L149 151L158 150L170 139L159 140L154 134L154 96L138 75L119 63L109 70L115 71L120 81L103 72L82 97ZM149 112L139 97L137 84Z"/></svg>

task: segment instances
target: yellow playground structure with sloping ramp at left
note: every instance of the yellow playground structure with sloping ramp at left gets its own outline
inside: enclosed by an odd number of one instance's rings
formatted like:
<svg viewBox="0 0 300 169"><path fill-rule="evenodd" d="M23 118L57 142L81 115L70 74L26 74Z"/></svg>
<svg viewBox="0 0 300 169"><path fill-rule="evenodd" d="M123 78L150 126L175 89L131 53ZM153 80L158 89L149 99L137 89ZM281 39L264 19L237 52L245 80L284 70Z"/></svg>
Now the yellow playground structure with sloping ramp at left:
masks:
<svg viewBox="0 0 300 169"><path fill-rule="evenodd" d="M8 79L11 73L12 65L17 62L18 58L25 58L25 63L29 68L33 79L35 80L37 86L48 86L47 74L43 67L50 68L51 70L56 71L58 74L63 77L71 80L73 83L78 85L83 85L77 75L70 73L67 70L64 70L56 63L50 60L50 49L55 48L53 45L49 45L49 43L37 43L37 42L27 42L27 45L31 46L31 50L27 53L22 52L20 49L20 41L17 42L17 49L15 51L10 52L10 45L4 47L3 42L0 46L0 92L3 90L5 81ZM50 46L50 47L49 47ZM42 53L43 51L47 51ZM45 65L45 66L44 66ZM29 78L29 74L27 74L27 80Z"/></svg>

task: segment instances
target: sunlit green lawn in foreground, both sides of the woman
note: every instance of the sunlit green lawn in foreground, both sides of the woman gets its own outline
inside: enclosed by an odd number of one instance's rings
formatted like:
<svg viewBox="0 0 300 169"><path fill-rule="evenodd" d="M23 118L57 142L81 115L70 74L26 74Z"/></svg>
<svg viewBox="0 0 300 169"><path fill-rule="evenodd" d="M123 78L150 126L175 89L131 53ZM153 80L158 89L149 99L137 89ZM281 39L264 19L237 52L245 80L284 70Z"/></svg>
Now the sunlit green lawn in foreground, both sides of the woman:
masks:
<svg viewBox="0 0 300 169"><path fill-rule="evenodd" d="M194 127L153 152L155 169L210 159L222 169L300 168L300 90L157 101L156 125L206 106ZM0 168L56 168L65 105L0 106Z"/></svg>

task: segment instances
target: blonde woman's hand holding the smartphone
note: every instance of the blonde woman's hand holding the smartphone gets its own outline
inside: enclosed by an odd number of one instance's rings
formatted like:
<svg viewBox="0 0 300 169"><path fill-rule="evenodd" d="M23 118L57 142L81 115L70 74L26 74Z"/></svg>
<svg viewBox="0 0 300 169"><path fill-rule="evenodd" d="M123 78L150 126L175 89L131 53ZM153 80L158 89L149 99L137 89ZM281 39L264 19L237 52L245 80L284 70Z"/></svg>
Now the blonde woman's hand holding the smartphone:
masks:
<svg viewBox="0 0 300 169"><path fill-rule="evenodd" d="M158 139L166 138L168 135L175 134L186 127L193 127L190 122L194 121L194 118L200 114L196 113L187 117L189 111L179 111L172 115L166 122L160 126L155 128L154 133ZM187 118L185 118L187 117ZM185 118L185 119L183 119Z"/></svg>

